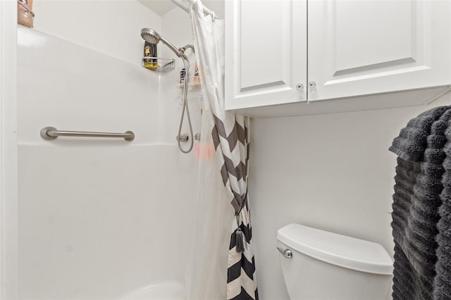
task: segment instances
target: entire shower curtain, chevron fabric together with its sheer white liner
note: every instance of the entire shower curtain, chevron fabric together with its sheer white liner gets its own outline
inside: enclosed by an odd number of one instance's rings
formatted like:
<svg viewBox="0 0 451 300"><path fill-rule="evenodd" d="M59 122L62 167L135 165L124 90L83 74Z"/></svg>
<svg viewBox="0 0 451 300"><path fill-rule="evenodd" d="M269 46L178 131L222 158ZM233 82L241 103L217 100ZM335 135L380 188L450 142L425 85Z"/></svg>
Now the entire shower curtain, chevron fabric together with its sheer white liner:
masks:
<svg viewBox="0 0 451 300"><path fill-rule="evenodd" d="M224 111L224 24L190 0L204 96L188 299L258 299L247 195L249 118ZM231 204L231 205L230 205Z"/></svg>

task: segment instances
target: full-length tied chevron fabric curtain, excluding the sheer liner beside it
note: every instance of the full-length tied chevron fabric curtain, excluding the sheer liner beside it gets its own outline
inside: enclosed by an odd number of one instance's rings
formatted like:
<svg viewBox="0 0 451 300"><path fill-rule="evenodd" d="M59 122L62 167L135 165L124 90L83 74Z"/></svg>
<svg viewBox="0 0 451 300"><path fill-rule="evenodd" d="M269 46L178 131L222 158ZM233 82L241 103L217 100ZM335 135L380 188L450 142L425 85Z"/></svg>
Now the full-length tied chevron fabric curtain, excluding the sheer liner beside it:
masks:
<svg viewBox="0 0 451 300"><path fill-rule="evenodd" d="M202 73L204 106L211 124L221 177L235 218L230 226L227 299L258 300L252 227L249 218L247 170L249 160L249 118L224 110L224 25L223 20L204 15L202 1L190 0L192 32L199 70Z"/></svg>

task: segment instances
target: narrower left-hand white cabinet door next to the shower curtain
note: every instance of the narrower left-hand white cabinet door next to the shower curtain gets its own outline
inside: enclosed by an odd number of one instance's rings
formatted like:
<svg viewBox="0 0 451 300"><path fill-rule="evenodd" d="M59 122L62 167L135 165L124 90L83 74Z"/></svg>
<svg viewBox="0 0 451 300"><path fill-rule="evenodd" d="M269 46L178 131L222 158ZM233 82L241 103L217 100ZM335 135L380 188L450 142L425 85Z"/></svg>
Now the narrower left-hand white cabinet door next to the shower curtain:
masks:
<svg viewBox="0 0 451 300"><path fill-rule="evenodd" d="M307 1L226 1L226 109L306 101Z"/></svg>

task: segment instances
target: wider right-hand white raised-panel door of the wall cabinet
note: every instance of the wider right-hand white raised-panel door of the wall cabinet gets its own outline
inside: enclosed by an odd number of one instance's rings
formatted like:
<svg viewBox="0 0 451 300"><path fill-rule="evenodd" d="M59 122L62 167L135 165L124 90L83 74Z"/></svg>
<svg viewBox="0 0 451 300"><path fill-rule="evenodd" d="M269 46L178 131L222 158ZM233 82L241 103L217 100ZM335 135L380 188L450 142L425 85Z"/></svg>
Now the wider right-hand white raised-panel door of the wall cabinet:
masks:
<svg viewBox="0 0 451 300"><path fill-rule="evenodd" d="M450 3L309 1L309 100L450 84Z"/></svg>

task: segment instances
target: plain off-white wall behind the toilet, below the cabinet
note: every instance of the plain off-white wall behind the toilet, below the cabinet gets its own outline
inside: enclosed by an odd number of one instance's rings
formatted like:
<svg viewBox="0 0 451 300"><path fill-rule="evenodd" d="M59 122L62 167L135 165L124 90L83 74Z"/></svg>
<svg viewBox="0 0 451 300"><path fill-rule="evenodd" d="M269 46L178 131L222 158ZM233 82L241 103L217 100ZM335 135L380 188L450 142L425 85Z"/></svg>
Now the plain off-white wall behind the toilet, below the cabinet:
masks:
<svg viewBox="0 0 451 300"><path fill-rule="evenodd" d="M249 196L262 300L288 299L276 250L284 225L367 239L393 254L396 156L388 147L408 120L450 101L447 94L429 106L253 120Z"/></svg>

